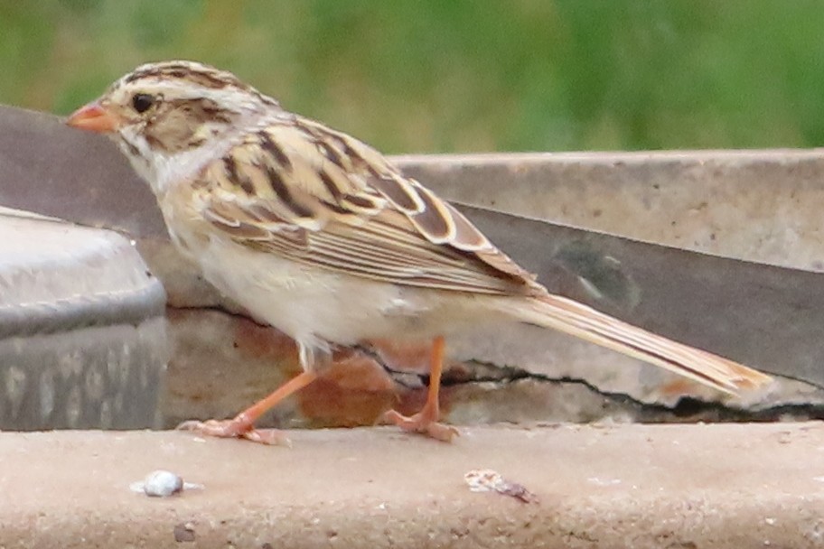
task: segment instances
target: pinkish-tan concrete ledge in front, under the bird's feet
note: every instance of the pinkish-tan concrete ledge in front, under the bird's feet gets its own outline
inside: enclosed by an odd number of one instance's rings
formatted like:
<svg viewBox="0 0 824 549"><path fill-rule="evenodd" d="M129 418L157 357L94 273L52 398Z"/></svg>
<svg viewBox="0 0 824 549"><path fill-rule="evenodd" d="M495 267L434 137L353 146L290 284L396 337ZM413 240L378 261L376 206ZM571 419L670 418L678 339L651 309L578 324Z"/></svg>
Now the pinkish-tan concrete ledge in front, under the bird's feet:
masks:
<svg viewBox="0 0 824 549"><path fill-rule="evenodd" d="M5 547L812 547L820 423L296 431L294 446L188 433L4 433ZM155 469L203 489L147 498ZM523 503L468 489L496 470Z"/></svg>

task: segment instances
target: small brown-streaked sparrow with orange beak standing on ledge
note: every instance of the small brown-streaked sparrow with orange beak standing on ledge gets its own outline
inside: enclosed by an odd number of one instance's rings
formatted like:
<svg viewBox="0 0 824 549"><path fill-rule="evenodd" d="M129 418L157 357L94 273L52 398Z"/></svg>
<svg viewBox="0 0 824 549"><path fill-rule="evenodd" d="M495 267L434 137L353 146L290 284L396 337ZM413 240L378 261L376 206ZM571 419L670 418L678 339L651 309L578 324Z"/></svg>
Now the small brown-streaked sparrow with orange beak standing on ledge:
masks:
<svg viewBox="0 0 824 549"><path fill-rule="evenodd" d="M289 112L229 71L146 63L66 123L108 135L154 192L174 246L298 346L296 377L231 419L182 429L278 442L254 423L312 383L336 349L415 340L431 349L426 404L385 417L450 441L457 431L439 422L438 405L445 341L501 321L560 330L730 394L771 380L549 293L378 150Z"/></svg>

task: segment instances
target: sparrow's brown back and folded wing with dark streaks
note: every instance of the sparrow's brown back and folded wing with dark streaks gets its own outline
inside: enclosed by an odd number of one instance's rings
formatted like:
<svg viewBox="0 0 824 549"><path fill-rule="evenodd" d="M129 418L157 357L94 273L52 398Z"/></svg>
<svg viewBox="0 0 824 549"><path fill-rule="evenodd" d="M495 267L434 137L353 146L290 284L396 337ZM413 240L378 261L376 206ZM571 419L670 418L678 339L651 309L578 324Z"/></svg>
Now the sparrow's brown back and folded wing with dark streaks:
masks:
<svg viewBox="0 0 824 549"><path fill-rule="evenodd" d="M303 118L247 135L198 183L203 219L261 252L392 284L542 293L435 193L368 145Z"/></svg>

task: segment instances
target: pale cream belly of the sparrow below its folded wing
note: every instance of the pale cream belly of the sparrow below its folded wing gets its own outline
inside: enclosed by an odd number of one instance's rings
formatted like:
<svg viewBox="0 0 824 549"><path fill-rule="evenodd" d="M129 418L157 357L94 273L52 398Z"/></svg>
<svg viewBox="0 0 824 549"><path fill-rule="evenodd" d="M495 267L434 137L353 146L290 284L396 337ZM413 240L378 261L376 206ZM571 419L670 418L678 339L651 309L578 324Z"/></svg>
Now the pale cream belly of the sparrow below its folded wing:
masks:
<svg viewBox="0 0 824 549"><path fill-rule="evenodd" d="M304 344L426 340L479 321L479 302L471 295L342 275L221 237L211 237L198 261L221 293Z"/></svg>

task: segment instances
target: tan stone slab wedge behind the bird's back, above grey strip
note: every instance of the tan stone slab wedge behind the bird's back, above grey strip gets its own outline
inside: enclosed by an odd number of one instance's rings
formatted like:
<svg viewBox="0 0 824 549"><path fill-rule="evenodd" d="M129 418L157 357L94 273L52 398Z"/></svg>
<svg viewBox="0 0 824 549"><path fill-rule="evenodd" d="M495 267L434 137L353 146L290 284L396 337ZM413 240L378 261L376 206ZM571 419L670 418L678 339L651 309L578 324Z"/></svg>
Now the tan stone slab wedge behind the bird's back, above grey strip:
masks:
<svg viewBox="0 0 824 549"><path fill-rule="evenodd" d="M397 156L449 200L821 271L824 150Z"/></svg>

